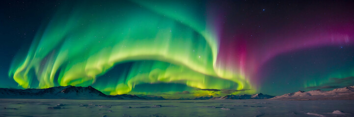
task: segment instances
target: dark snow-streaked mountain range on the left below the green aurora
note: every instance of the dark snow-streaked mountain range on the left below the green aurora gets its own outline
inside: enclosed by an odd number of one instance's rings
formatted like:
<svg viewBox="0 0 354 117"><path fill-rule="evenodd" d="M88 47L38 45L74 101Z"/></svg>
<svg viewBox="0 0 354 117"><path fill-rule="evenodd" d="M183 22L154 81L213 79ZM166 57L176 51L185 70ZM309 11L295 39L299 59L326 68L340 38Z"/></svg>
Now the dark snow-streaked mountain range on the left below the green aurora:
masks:
<svg viewBox="0 0 354 117"><path fill-rule="evenodd" d="M105 95L97 89L76 86L57 86L47 89L0 88L0 98L46 98L46 99L164 99L162 97L138 97L136 95Z"/></svg>

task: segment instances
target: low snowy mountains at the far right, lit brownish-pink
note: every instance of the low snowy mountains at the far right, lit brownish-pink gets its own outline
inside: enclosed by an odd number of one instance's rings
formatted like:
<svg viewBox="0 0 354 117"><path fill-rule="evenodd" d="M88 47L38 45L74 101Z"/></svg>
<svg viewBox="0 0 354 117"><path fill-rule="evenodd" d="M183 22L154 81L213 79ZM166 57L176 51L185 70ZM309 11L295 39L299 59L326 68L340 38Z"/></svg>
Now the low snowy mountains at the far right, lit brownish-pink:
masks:
<svg viewBox="0 0 354 117"><path fill-rule="evenodd" d="M337 88L331 91L298 91L271 98L274 100L345 100L354 99L354 86Z"/></svg>

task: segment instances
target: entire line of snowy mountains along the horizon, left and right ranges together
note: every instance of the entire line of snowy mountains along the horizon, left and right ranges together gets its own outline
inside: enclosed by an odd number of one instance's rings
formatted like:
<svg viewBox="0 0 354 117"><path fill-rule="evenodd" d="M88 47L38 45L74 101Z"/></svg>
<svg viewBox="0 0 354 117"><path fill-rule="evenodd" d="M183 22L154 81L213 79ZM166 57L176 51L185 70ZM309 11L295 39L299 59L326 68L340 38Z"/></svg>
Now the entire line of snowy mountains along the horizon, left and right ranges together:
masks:
<svg viewBox="0 0 354 117"><path fill-rule="evenodd" d="M45 99L153 99L165 100L161 96L151 95L105 95L95 88L76 86L57 86L47 89L9 89L0 88L0 98L45 98ZM227 95L224 97L179 98L177 100L206 100L206 99L272 99L272 100L343 100L354 99L354 86L337 88L331 91L299 91L282 96L260 94Z"/></svg>

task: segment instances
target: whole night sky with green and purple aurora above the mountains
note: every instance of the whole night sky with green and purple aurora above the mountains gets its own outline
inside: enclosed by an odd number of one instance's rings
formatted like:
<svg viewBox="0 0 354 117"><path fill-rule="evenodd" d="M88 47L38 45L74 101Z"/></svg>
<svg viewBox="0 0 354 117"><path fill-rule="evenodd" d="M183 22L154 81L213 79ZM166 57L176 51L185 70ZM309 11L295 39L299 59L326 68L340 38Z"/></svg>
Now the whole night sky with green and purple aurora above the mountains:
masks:
<svg viewBox="0 0 354 117"><path fill-rule="evenodd" d="M3 0L0 87L193 98L354 85L350 0Z"/></svg>

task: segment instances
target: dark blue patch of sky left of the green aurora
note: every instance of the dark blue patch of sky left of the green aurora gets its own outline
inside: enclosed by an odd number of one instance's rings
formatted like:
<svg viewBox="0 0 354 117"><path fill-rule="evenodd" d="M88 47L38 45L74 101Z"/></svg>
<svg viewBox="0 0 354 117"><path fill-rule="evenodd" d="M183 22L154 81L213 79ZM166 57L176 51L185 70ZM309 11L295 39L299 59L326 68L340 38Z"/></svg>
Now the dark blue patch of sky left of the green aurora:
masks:
<svg viewBox="0 0 354 117"><path fill-rule="evenodd" d="M8 77L17 53L26 52L43 22L48 22L56 1L4 0L0 4L0 82L1 87L17 87ZM21 51L20 51L21 50Z"/></svg>

